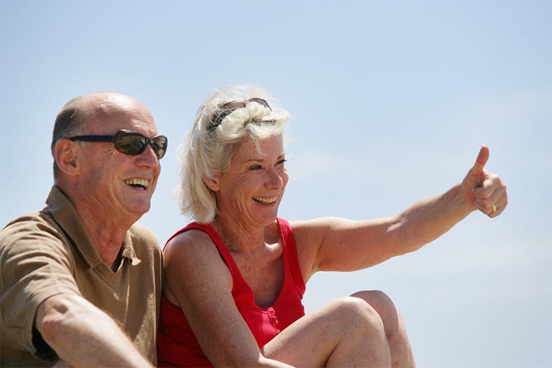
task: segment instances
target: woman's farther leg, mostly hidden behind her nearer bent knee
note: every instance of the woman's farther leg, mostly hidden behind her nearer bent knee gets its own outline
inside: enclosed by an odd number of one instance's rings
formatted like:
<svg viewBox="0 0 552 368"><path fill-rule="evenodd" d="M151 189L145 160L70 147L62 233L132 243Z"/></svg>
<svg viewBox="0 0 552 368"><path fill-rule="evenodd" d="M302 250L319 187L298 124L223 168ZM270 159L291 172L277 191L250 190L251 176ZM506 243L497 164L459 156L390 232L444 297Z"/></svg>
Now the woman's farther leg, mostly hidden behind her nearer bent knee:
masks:
<svg viewBox="0 0 552 368"><path fill-rule="evenodd" d="M393 301L379 290L359 291L351 296L365 300L382 318L393 367L416 367L405 323Z"/></svg>

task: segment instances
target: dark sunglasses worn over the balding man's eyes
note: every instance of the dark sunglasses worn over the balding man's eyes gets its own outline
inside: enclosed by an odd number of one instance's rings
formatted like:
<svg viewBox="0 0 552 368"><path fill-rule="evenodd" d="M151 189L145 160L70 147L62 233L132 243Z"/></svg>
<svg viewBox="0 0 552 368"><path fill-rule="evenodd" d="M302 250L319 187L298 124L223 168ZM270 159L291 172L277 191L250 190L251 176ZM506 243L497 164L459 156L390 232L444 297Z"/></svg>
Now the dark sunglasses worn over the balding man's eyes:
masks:
<svg viewBox="0 0 552 368"><path fill-rule="evenodd" d="M76 137L68 137L67 139L82 140L83 142L112 142L115 144L117 151L130 154L131 156L142 154L149 143L157 159L163 159L167 150L167 138L165 135L147 138L142 133L127 131L126 129L118 131L115 135L78 135Z"/></svg>

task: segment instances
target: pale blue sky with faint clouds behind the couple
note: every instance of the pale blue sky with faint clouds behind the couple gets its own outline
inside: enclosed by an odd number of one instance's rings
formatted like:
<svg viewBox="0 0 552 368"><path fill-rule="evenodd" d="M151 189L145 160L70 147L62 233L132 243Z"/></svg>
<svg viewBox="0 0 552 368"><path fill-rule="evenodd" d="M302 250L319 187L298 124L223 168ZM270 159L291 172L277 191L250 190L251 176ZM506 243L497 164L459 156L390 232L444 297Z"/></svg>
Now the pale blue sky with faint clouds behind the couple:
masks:
<svg viewBox="0 0 552 368"><path fill-rule="evenodd" d="M497 219L317 274L307 311L384 290L419 367L552 366L552 1L0 1L1 226L43 207L61 106L120 91L169 138L140 220L164 243L189 221L175 151L198 106L258 84L293 115L286 219L397 214L460 182L481 144L508 186Z"/></svg>

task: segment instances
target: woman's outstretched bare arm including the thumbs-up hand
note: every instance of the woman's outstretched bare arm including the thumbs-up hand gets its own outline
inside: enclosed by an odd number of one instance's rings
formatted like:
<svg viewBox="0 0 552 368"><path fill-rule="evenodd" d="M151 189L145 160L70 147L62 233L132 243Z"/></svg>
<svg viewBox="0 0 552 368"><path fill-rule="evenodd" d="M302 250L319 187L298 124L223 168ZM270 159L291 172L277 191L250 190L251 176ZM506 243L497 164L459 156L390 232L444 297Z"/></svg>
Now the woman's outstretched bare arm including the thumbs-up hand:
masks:
<svg viewBox="0 0 552 368"><path fill-rule="evenodd" d="M416 251L432 242L471 212L489 217L504 211L506 186L485 170L483 146L463 182L448 191L408 207L396 216L366 221L321 218L291 224L305 281L319 270L351 271Z"/></svg>

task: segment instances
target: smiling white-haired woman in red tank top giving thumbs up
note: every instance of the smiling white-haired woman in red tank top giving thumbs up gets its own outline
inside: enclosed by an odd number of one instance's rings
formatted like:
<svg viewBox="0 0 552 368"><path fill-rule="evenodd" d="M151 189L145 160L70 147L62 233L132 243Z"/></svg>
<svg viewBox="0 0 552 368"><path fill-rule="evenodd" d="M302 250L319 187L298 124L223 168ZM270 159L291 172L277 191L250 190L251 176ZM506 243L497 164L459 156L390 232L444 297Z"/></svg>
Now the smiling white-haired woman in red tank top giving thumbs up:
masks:
<svg viewBox="0 0 552 368"><path fill-rule="evenodd" d="M476 209L507 205L482 147L463 182L366 221L277 216L288 182L289 113L248 86L215 91L182 145L180 205L190 223L165 247L159 365L414 367L405 327L382 292L361 291L305 315L315 272L361 270L415 251Z"/></svg>

